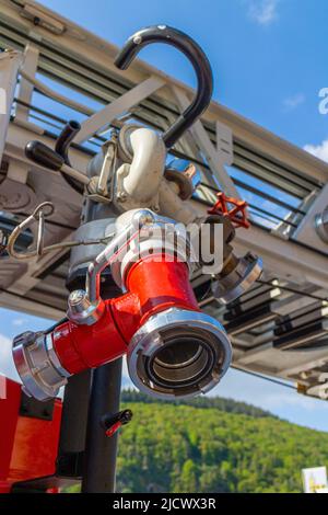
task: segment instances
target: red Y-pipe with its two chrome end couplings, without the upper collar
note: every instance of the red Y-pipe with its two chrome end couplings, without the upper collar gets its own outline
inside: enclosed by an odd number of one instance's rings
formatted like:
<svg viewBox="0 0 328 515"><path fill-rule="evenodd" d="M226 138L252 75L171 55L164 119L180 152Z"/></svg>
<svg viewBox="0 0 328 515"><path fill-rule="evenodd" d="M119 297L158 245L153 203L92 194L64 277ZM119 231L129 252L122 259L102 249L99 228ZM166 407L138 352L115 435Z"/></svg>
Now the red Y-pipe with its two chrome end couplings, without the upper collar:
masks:
<svg viewBox="0 0 328 515"><path fill-rule="evenodd" d="M67 377L127 353L132 381L155 397L189 397L215 386L231 360L220 322L200 312L188 266L172 255L130 264L127 294L102 300L92 324L68 320L49 333L23 333L13 356L25 390L55 397Z"/></svg>

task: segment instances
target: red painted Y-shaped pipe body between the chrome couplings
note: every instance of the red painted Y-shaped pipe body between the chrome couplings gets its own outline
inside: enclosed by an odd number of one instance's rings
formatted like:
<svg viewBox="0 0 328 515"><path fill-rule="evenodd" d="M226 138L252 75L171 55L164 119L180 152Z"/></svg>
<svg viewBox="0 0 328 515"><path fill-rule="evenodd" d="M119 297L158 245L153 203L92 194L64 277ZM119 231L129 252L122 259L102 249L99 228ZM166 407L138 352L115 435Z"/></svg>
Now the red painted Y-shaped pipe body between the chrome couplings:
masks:
<svg viewBox="0 0 328 515"><path fill-rule="evenodd" d="M151 255L132 264L127 273L128 294L106 300L103 317L93 325L65 322L52 332L61 365L77 374L122 356L145 320L177 307L198 311L186 263L172 256Z"/></svg>

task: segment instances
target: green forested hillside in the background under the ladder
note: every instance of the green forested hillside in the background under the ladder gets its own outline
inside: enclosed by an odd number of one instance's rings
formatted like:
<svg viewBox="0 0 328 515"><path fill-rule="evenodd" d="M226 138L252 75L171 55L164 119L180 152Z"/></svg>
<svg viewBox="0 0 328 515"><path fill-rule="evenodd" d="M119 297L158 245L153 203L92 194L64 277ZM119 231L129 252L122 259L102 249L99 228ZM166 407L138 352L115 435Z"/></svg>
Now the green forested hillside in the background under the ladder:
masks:
<svg viewBox="0 0 328 515"><path fill-rule="evenodd" d="M300 492L302 468L328 465L328 434L247 404L124 401L134 416L119 439L119 492Z"/></svg>

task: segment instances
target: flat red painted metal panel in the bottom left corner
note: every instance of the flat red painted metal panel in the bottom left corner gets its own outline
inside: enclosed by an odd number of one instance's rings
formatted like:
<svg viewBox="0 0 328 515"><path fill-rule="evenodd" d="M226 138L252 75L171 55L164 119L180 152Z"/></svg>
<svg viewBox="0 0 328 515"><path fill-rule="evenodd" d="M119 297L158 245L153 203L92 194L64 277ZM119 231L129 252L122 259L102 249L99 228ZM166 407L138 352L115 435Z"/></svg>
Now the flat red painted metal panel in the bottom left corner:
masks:
<svg viewBox="0 0 328 515"><path fill-rule="evenodd" d="M20 415L21 385L5 382L7 397L0 400L0 493L17 481L55 473L61 420L59 399L51 421Z"/></svg>

